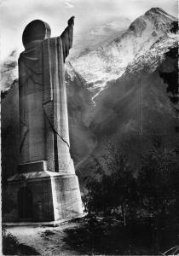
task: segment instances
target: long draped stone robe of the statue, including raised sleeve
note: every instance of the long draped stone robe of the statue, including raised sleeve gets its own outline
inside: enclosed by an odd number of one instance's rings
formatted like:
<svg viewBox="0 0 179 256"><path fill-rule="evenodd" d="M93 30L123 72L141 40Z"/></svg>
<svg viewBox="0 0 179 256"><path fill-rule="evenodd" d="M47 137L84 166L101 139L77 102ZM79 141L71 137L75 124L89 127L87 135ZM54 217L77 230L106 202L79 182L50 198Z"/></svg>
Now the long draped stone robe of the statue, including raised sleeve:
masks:
<svg viewBox="0 0 179 256"><path fill-rule="evenodd" d="M32 41L20 54L20 165L43 160L48 171L74 173L64 75L72 33L71 24L61 37Z"/></svg>

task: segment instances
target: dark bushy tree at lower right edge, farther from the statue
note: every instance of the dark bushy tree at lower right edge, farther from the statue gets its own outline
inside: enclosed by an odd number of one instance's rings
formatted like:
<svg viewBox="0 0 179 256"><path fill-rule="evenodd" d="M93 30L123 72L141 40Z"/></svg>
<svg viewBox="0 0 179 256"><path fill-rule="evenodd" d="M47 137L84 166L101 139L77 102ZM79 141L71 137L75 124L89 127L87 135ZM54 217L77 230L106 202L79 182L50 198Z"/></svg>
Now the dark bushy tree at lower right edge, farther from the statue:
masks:
<svg viewBox="0 0 179 256"><path fill-rule="evenodd" d="M162 145L159 139L153 140L153 148L142 157L138 177L139 207L159 222L164 222L167 216L178 216L178 167L176 151Z"/></svg>

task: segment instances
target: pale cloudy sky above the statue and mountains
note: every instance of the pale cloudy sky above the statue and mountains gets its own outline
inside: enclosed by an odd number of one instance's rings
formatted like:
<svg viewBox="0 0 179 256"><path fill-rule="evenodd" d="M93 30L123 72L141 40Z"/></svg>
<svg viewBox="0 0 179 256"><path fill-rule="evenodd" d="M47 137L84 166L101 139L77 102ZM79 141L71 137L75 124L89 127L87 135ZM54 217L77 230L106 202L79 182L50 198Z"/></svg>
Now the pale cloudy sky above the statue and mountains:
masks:
<svg viewBox="0 0 179 256"><path fill-rule="evenodd" d="M0 61L13 49L23 50L21 35L32 20L49 23L53 37L61 35L72 15L78 34L120 15L135 20L152 7L177 16L177 0L0 0Z"/></svg>

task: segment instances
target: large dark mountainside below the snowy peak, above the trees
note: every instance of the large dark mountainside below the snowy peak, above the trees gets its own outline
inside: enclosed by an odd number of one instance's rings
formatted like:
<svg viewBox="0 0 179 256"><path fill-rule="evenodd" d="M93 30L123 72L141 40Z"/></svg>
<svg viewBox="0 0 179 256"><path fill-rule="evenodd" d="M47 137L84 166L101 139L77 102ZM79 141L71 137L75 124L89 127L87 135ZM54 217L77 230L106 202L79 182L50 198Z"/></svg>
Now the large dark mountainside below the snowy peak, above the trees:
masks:
<svg viewBox="0 0 179 256"><path fill-rule="evenodd" d="M125 73L102 90L90 123L97 144L79 166L83 177L93 173L91 157L103 155L108 140L129 157L134 172L155 140L179 152L177 72L177 48L173 48L153 72Z"/></svg>

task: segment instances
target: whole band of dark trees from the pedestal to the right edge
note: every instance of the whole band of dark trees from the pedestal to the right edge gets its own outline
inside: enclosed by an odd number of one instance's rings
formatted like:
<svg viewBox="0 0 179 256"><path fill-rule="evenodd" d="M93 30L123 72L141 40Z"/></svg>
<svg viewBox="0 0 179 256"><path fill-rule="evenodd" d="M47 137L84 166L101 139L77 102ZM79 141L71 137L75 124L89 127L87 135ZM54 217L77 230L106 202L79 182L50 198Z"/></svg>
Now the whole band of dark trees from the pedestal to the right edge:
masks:
<svg viewBox="0 0 179 256"><path fill-rule="evenodd" d="M138 177L133 177L127 158L108 143L105 155L100 159L94 156L95 176L86 178L85 211L117 214L124 225L126 219L139 217L152 218L157 226L177 222L178 167L177 150L153 137L153 147L141 156Z"/></svg>

